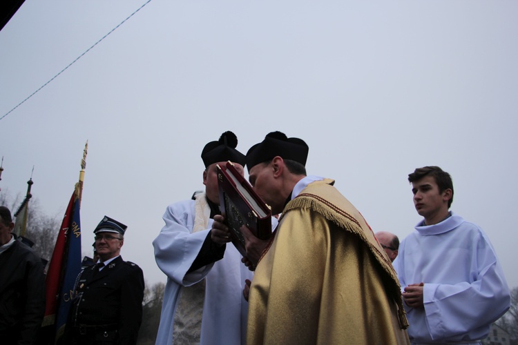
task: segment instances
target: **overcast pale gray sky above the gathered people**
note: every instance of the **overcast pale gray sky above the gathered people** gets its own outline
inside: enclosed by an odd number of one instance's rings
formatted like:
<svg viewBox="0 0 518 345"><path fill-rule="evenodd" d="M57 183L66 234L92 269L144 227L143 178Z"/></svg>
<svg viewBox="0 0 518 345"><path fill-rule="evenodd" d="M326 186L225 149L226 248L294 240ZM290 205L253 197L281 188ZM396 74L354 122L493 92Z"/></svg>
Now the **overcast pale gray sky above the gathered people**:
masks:
<svg viewBox="0 0 518 345"><path fill-rule="evenodd" d="M0 31L0 117L145 0L26 1ZM272 130L374 231L420 220L408 173L438 165L518 286L518 1L154 0L0 120L0 188L63 216L88 139L83 255L104 215L122 256L165 282L151 242L168 204L203 188L225 130L246 152ZM451 263L457 264L457 263Z"/></svg>

